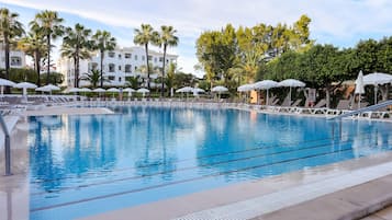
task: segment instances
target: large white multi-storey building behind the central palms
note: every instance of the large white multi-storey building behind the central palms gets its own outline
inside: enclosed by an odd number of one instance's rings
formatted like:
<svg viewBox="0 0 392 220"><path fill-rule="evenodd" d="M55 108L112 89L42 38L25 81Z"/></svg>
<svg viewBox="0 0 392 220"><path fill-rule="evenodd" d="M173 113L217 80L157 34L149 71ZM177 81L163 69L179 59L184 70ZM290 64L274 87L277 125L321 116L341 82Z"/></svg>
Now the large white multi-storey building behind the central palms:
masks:
<svg viewBox="0 0 392 220"><path fill-rule="evenodd" d="M164 54L149 50L149 63L156 68L161 68ZM177 55L166 55L166 63L177 62ZM93 69L100 69L100 53L96 51L90 59L80 60L79 73L82 77L85 73ZM146 66L146 55L143 47L124 47L116 48L112 51L105 51L103 59L103 76L110 81L104 82L109 86L124 86L126 78L142 74L139 68ZM57 62L58 72L65 76L65 85L74 88L75 84L75 67L72 59L60 58ZM150 78L156 78L153 74ZM80 80L79 86L89 85L88 81Z"/></svg>

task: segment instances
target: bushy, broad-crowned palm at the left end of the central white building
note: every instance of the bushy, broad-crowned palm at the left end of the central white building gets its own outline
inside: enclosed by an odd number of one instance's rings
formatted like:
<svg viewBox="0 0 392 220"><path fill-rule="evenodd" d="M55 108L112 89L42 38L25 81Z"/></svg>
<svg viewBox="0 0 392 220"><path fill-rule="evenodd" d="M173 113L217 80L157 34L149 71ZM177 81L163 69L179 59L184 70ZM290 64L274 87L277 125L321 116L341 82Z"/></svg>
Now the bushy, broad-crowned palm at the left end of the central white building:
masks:
<svg viewBox="0 0 392 220"><path fill-rule="evenodd" d="M66 28L66 36L63 38L61 57L72 58L75 67L75 86L79 86L79 62L80 59L90 58L91 30L85 28L81 24L76 24L75 28Z"/></svg>

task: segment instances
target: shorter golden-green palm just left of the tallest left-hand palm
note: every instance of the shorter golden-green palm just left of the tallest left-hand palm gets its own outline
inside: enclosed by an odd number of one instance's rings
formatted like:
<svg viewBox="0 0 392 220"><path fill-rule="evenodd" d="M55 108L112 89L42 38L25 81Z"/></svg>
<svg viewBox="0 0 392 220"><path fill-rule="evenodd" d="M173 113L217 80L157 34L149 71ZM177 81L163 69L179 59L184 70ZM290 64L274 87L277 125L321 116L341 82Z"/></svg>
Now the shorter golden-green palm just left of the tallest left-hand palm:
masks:
<svg viewBox="0 0 392 220"><path fill-rule="evenodd" d="M45 39L40 32L31 30L27 36L18 43L18 47L26 55L33 57L34 69L37 74L36 84L41 86L41 60L46 53Z"/></svg>

